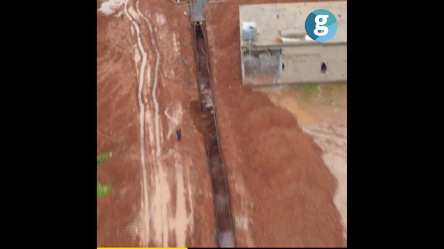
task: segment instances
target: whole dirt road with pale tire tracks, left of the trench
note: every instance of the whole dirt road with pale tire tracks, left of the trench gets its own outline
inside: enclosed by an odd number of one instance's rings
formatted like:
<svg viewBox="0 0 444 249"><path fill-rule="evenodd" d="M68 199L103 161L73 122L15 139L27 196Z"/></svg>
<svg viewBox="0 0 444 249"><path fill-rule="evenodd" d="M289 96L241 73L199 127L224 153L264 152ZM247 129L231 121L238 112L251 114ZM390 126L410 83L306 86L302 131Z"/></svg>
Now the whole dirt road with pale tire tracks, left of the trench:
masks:
<svg viewBox="0 0 444 249"><path fill-rule="evenodd" d="M97 201L98 246L213 247L210 174L189 114L198 91L188 8L97 3L98 153L113 150L98 180L114 184Z"/></svg>

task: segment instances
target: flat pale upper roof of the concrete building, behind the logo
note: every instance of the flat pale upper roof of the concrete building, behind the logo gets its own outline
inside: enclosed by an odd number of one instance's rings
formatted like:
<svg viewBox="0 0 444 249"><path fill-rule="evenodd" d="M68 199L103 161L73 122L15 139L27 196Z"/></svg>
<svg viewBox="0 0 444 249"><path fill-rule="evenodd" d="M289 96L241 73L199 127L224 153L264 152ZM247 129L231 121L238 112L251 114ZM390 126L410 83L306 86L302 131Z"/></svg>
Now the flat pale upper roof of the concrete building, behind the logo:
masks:
<svg viewBox="0 0 444 249"><path fill-rule="evenodd" d="M242 37L242 24L255 22L257 36L252 41L253 46L282 46L276 37L282 33L305 32L305 19L314 10L325 9L334 14L338 22L338 30L332 39L323 43L337 44L347 42L347 2L346 1L318 1L305 3L268 3L239 6L239 32ZM300 42L293 42L290 46L298 44L319 44L308 38ZM247 46L248 41L241 39L241 46Z"/></svg>

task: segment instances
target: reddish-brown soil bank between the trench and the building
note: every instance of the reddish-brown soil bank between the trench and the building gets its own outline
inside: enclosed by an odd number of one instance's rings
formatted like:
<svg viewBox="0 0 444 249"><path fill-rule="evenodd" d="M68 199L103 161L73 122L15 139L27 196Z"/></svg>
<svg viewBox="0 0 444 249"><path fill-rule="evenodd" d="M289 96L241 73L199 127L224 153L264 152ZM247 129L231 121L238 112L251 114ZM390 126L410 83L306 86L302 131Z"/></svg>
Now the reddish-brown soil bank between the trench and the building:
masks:
<svg viewBox="0 0 444 249"><path fill-rule="evenodd" d="M241 87L238 6L267 2L214 2L205 10L236 246L343 247L336 180L321 149L290 112Z"/></svg>

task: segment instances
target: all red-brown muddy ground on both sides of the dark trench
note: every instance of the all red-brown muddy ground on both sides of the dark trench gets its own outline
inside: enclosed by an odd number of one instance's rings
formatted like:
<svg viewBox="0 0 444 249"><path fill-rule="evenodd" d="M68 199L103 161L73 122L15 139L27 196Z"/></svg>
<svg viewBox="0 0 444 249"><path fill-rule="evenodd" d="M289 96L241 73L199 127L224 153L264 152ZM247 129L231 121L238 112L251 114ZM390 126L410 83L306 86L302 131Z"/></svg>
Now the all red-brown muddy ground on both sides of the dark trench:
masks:
<svg viewBox="0 0 444 249"><path fill-rule="evenodd" d="M97 8L104 10L102 2ZM116 7L110 15L97 14L97 153L113 153L99 166L98 182L114 189L97 200L97 246L217 246L205 150L211 121L198 104L189 6L170 0L133 0L126 7L123 0L107 2ZM343 153L338 155L342 149L346 156L346 137L345 145L336 140L340 146L332 149L325 133L346 134L346 99L345 105L331 105L331 96L325 94L325 102L305 96L303 89L242 88L239 2L270 1L213 2L205 12L236 246L345 246L346 191L344 212L339 189L346 190L346 180L336 178L346 176ZM334 91L339 103L343 87ZM332 154L325 153L329 149Z"/></svg>

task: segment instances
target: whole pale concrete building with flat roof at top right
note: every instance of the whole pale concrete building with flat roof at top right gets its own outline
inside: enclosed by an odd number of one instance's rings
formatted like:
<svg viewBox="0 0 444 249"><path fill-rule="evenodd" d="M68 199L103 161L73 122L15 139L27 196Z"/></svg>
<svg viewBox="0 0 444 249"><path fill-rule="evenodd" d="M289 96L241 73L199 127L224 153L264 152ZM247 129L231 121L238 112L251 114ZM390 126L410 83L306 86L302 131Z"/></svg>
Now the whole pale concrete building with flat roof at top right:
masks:
<svg viewBox="0 0 444 249"><path fill-rule="evenodd" d="M311 40L305 31L305 19L318 9L329 10L338 22L326 42ZM347 80L346 1L241 5L239 32L245 86Z"/></svg>

